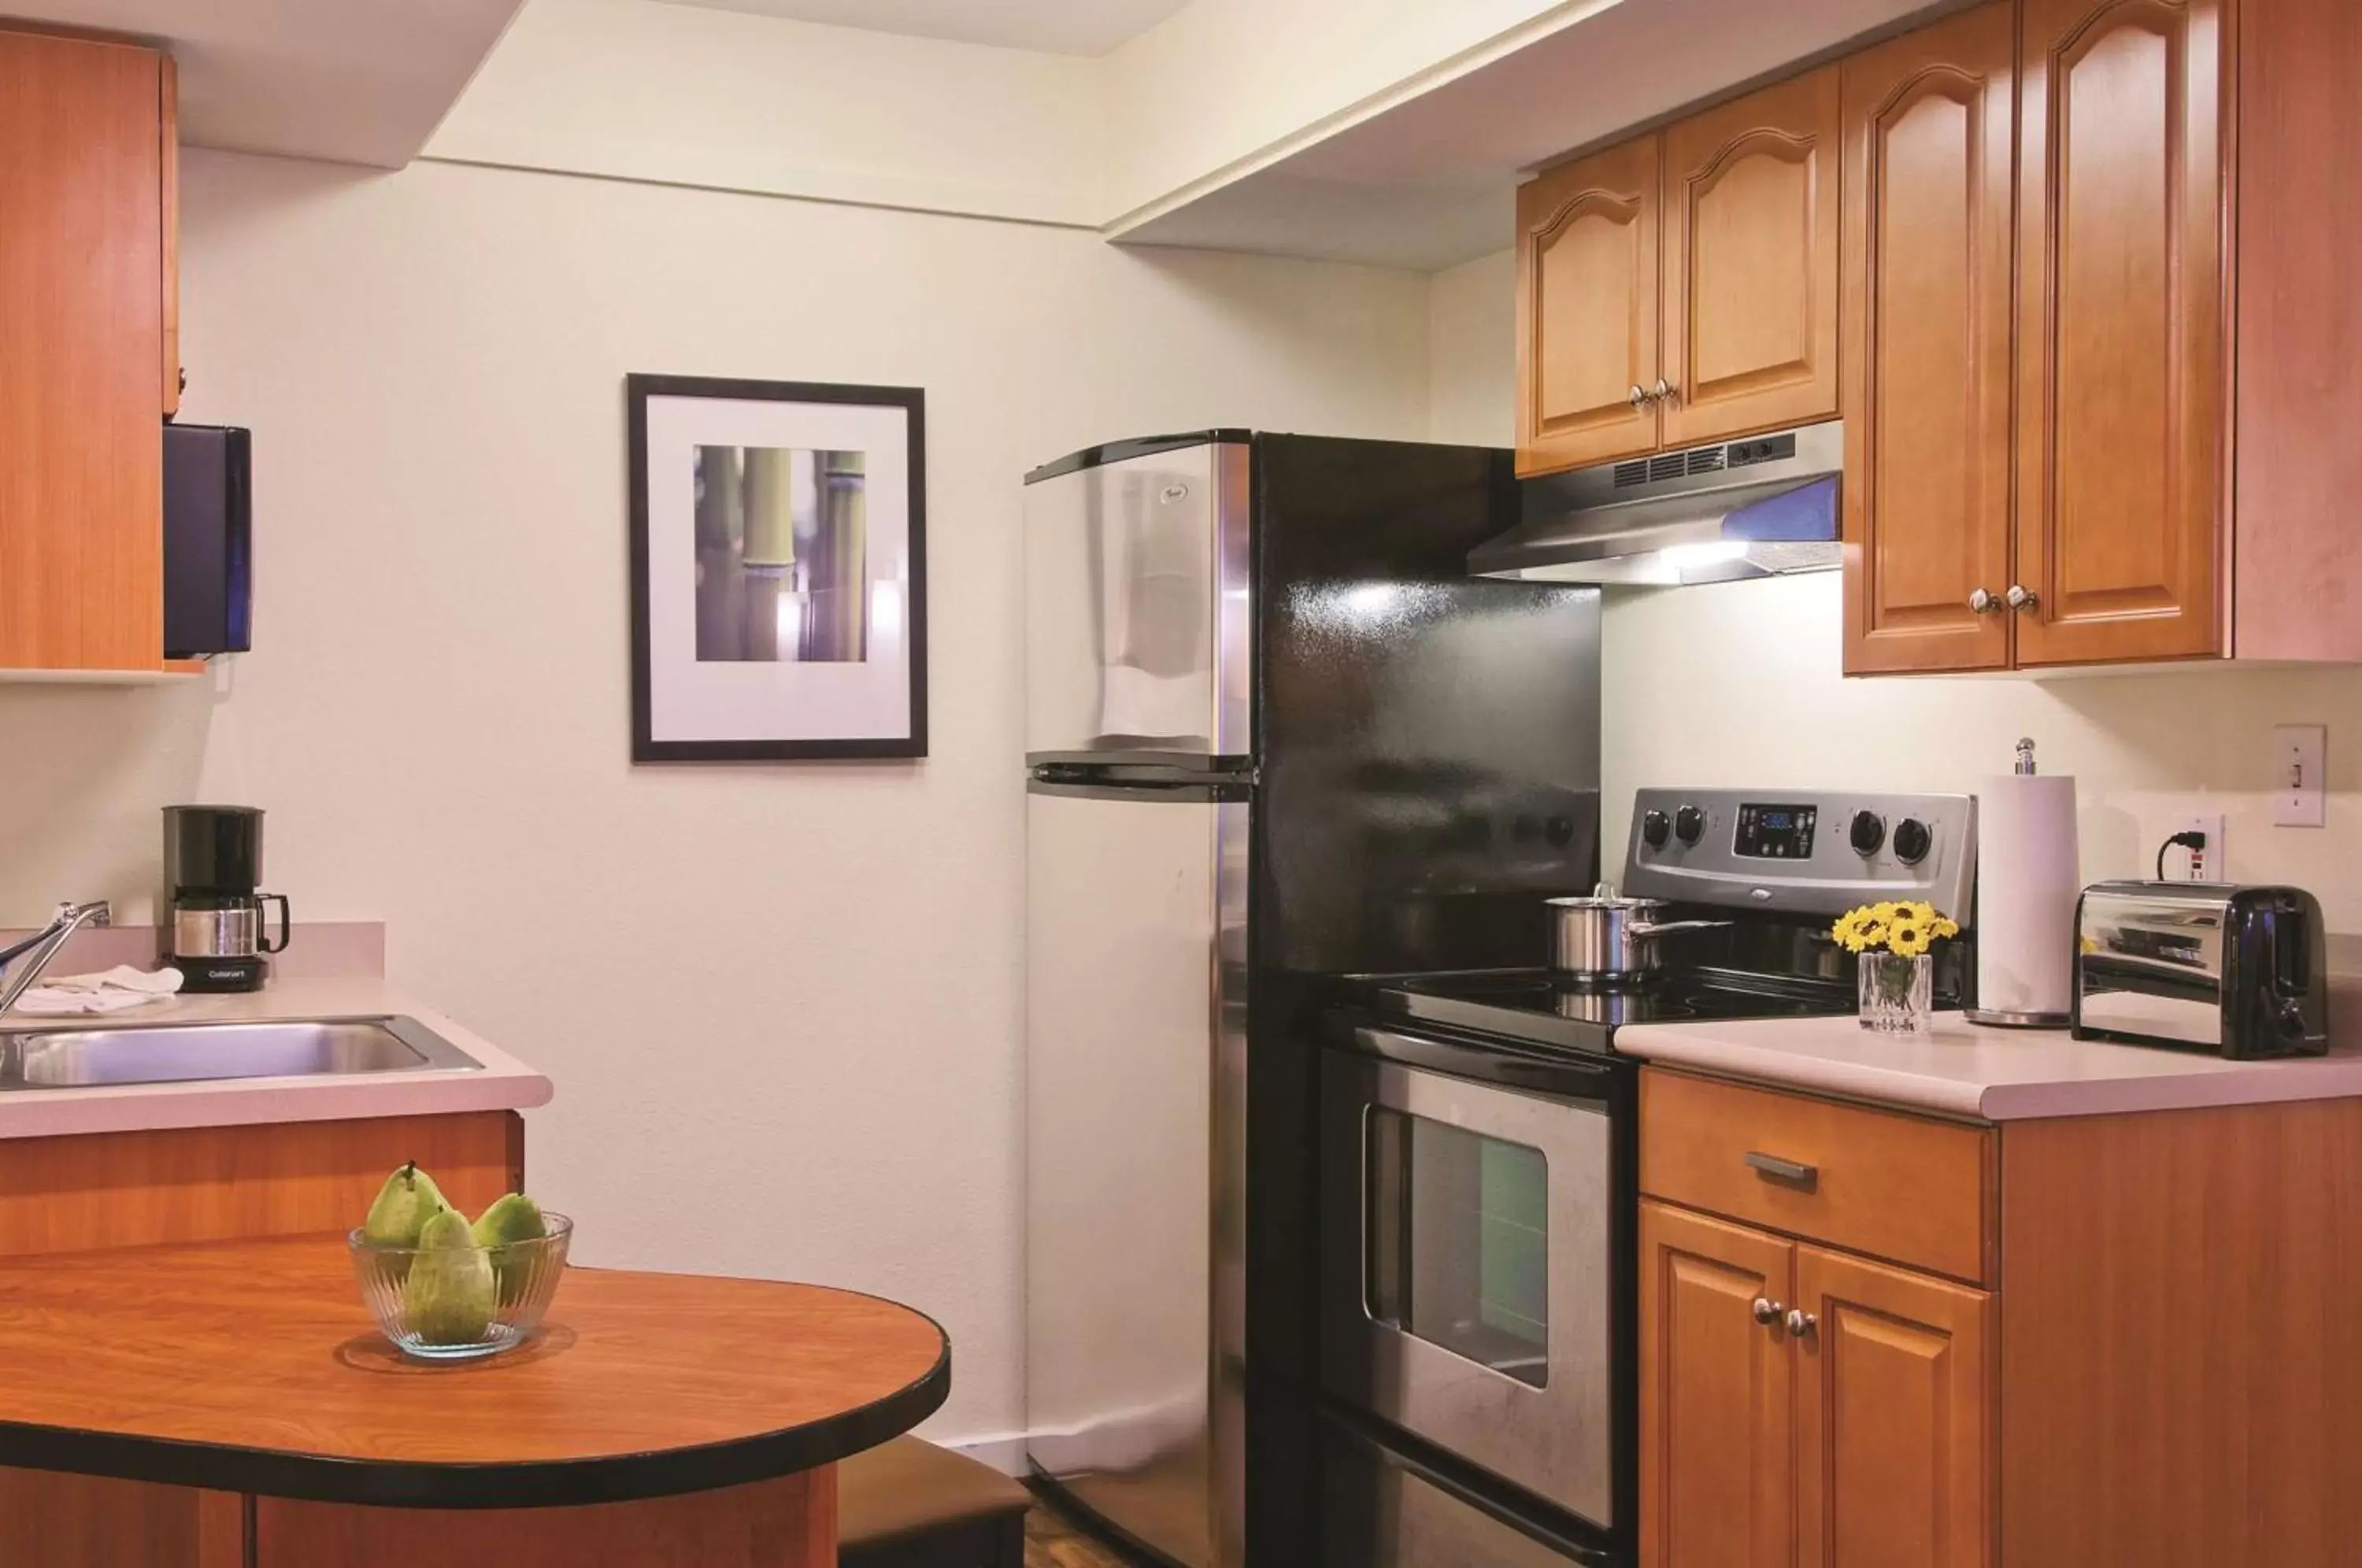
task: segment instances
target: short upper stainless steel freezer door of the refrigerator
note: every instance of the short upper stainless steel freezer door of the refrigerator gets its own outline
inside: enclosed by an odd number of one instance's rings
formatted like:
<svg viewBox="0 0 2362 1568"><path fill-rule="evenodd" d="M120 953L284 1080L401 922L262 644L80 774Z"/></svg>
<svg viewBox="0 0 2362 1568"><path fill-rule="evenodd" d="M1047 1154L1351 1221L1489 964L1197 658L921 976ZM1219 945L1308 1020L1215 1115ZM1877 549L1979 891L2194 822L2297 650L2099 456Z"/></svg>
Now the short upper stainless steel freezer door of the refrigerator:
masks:
<svg viewBox="0 0 2362 1568"><path fill-rule="evenodd" d="M1247 446L1025 486L1025 753L1247 756Z"/></svg>

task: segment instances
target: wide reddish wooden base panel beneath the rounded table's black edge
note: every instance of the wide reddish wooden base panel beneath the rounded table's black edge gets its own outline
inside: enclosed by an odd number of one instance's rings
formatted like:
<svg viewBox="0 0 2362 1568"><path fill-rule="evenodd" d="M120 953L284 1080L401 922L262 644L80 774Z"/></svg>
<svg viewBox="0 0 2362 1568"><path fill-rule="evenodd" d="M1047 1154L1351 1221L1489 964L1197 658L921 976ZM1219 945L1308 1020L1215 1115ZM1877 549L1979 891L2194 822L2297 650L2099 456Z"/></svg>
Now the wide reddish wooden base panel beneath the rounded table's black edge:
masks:
<svg viewBox="0 0 2362 1568"><path fill-rule="evenodd" d="M465 1542L465 1547L461 1547ZM834 1568L836 1466L579 1509L364 1509L255 1500L255 1568Z"/></svg>

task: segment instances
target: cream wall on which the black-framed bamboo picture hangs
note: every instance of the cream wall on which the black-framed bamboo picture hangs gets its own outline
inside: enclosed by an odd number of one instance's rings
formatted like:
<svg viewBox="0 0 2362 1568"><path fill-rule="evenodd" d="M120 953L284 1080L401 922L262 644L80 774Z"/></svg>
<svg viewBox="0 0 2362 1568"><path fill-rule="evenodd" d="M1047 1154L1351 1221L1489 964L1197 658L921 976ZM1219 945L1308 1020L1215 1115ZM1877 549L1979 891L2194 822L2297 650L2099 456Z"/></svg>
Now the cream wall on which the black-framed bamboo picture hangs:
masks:
<svg viewBox="0 0 2362 1568"><path fill-rule="evenodd" d="M0 926L137 914L156 808L269 810L298 919L543 1067L579 1256L935 1313L1020 1419L1018 477L1190 425L1415 437L1427 283L420 163L182 168L189 418L255 427L222 699L0 687ZM624 373L928 397L933 756L628 763Z"/></svg>

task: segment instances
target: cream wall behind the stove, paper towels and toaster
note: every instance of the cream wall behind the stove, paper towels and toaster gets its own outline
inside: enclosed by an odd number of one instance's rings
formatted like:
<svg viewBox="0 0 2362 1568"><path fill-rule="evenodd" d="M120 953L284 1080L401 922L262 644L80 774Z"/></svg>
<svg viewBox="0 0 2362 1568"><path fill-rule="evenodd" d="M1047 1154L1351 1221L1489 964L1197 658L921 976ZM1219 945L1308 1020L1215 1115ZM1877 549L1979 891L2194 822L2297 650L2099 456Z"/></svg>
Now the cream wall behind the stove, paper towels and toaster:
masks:
<svg viewBox="0 0 2362 1568"><path fill-rule="evenodd" d="M1500 253L1434 276L1429 430L1514 439L1516 272ZM2017 737L2076 777L2083 876L2149 876L2182 810L2223 812L2237 881L2289 881L2362 933L2362 671L2190 668L2031 680L1842 678L1833 571L1609 590L1601 789L1609 867L1644 784L1972 791ZM2272 725L2329 725L2329 827L2272 827Z"/></svg>

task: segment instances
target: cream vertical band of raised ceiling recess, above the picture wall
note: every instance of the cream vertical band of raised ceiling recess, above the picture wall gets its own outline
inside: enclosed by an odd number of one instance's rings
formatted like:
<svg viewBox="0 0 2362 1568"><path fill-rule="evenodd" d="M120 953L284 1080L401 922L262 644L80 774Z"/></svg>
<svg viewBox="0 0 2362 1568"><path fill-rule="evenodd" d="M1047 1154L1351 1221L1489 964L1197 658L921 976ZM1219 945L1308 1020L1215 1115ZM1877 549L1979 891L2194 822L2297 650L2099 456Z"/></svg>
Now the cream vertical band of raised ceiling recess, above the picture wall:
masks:
<svg viewBox="0 0 2362 1568"><path fill-rule="evenodd" d="M1101 227L1623 0L1193 0L1101 59L529 0L428 158Z"/></svg>

